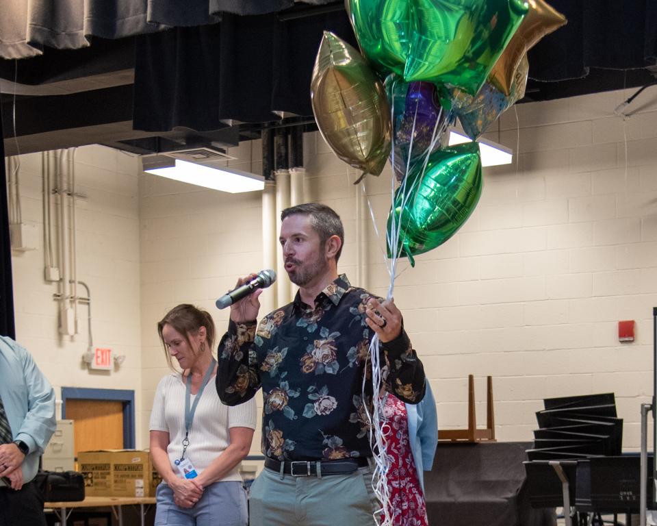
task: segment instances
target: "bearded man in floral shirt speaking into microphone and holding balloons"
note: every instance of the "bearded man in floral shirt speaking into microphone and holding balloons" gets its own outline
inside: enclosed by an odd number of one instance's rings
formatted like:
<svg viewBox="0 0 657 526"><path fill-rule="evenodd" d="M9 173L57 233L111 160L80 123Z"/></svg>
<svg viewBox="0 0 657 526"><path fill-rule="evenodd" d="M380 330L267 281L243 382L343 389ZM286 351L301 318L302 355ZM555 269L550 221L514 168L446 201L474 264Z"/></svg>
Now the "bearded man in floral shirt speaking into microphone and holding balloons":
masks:
<svg viewBox="0 0 657 526"><path fill-rule="evenodd" d="M400 400L422 400L424 368L394 301L352 287L337 273L344 243L339 216L307 203L283 210L281 221L285 271L299 291L259 325L262 291L235 301L218 349L222 402L242 403L263 390L266 461L250 489L250 524L374 524L379 505L366 416L371 338L377 334L381 342L385 390Z"/></svg>

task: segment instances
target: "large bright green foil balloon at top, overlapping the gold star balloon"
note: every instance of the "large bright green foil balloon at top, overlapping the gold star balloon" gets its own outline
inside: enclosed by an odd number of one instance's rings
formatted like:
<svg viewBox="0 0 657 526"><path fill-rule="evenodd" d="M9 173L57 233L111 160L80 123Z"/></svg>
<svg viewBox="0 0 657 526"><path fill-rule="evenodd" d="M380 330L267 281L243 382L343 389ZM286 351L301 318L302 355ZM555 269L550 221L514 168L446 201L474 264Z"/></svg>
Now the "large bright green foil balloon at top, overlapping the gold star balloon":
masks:
<svg viewBox="0 0 657 526"><path fill-rule="evenodd" d="M407 82L476 95L528 11L523 0L411 0Z"/></svg>

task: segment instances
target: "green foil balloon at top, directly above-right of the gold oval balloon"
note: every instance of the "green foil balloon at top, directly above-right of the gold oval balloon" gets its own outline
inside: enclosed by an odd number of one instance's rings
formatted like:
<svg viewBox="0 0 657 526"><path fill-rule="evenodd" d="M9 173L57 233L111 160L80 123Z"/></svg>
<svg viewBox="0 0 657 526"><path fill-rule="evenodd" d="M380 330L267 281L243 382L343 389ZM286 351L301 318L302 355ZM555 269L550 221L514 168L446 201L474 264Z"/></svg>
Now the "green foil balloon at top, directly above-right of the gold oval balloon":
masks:
<svg viewBox="0 0 657 526"><path fill-rule="evenodd" d="M409 51L409 0L345 0L363 55L385 77L402 75Z"/></svg>

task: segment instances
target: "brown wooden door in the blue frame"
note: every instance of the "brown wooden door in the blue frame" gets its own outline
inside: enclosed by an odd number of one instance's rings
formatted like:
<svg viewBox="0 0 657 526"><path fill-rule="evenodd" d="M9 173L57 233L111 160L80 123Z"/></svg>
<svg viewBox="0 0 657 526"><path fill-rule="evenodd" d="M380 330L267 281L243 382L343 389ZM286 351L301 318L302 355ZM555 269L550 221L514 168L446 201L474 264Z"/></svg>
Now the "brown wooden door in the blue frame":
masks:
<svg viewBox="0 0 657 526"><path fill-rule="evenodd" d="M75 456L78 451L123 449L123 402L71 399L66 418L75 421Z"/></svg>

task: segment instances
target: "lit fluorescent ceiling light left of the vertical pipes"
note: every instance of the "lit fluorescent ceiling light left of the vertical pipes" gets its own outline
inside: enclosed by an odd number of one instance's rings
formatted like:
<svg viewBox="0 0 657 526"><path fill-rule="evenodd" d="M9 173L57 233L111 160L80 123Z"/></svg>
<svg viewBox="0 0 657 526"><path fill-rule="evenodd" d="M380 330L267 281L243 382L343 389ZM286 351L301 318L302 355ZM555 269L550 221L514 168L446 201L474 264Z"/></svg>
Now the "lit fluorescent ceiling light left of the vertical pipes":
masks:
<svg viewBox="0 0 657 526"><path fill-rule="evenodd" d="M255 192L265 188L265 180L259 175L223 166L213 168L181 160L176 160L175 166L148 168L144 172L221 192L231 192L231 194Z"/></svg>

